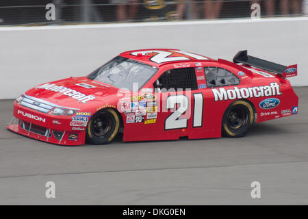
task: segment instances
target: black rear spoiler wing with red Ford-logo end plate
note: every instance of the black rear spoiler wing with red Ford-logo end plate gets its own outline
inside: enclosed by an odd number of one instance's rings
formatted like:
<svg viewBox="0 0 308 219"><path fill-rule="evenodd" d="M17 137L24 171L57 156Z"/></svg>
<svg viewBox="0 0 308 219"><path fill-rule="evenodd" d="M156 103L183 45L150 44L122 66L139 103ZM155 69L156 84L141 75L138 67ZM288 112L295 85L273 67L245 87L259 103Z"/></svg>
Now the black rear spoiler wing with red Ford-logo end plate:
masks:
<svg viewBox="0 0 308 219"><path fill-rule="evenodd" d="M272 73L277 73L281 75L281 77L294 77L297 75L297 64L292 66L283 66L281 64L276 64L274 62L268 62L266 60L261 60L257 57L253 57L251 55L247 55L247 50L239 51L233 57L234 63L243 63L249 66L254 66L257 68L261 68L264 70L268 70Z"/></svg>

